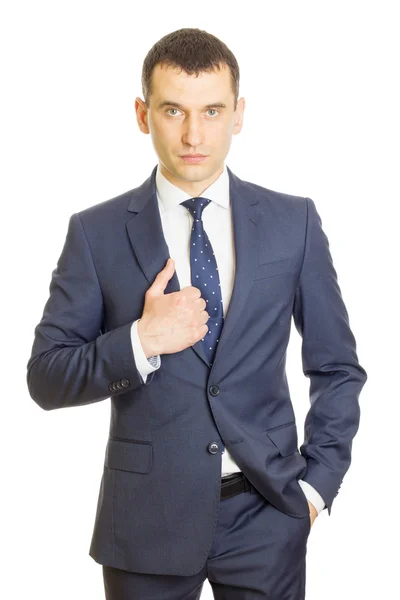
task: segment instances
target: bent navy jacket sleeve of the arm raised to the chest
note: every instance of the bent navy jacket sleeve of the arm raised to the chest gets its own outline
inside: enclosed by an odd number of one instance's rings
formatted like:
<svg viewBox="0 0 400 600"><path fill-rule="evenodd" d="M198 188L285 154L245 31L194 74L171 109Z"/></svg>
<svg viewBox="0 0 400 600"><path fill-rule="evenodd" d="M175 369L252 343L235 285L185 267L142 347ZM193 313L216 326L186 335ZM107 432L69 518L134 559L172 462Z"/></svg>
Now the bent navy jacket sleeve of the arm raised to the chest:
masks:
<svg viewBox="0 0 400 600"><path fill-rule="evenodd" d="M44 410L99 402L143 385L132 350L132 322L102 333L103 318L102 292L75 213L27 364L30 396Z"/></svg>

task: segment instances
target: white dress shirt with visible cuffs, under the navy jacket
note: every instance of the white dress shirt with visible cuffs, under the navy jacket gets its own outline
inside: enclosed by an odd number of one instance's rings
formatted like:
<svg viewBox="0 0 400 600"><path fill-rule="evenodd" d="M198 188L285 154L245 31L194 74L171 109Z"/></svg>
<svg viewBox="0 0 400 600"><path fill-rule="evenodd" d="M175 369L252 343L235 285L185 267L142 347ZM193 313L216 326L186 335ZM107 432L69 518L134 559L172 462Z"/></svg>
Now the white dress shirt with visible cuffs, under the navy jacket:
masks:
<svg viewBox="0 0 400 600"><path fill-rule="evenodd" d="M180 203L192 198L189 194L172 184L161 173L159 166L156 172L157 200L160 211L163 233L170 257L175 261L175 270L179 278L180 288L192 285L190 272L190 235L193 217ZM202 194L211 200L202 214L204 229L210 239L215 258L218 264L218 273L221 284L222 303L226 314L232 295L235 277L235 248L233 236L232 214L229 198L229 175L224 165L224 170L214 183ZM160 356L151 356L148 359L143 351L138 335L138 321L132 324L131 339L136 367L145 383L147 376L161 366ZM222 473L239 472L238 465L229 454L227 448L222 453ZM306 498L320 513L325 502L317 490L309 483L299 480Z"/></svg>

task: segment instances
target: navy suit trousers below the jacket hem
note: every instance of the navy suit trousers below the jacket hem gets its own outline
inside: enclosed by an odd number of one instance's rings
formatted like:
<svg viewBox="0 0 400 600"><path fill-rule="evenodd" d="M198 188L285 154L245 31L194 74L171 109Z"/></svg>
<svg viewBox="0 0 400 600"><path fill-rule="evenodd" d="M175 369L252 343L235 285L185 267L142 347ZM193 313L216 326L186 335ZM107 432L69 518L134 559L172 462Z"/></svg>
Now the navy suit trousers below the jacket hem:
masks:
<svg viewBox="0 0 400 600"><path fill-rule="evenodd" d="M220 501L207 560L190 576L133 573L103 565L107 600L304 600L310 517L278 510L251 484ZM193 540L196 543L196 540Z"/></svg>

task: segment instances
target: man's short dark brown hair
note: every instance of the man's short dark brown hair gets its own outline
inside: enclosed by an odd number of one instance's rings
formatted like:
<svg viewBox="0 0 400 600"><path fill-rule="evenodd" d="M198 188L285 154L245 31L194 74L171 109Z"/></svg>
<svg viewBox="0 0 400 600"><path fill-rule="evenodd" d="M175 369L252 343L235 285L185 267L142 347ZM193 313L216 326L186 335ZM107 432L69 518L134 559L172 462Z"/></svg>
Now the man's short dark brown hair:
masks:
<svg viewBox="0 0 400 600"><path fill-rule="evenodd" d="M239 65L233 53L220 39L207 31L177 29L162 37L147 53L142 68L142 91L146 106L152 94L152 74L156 65L180 68L188 75L212 72L228 66L234 94L234 110L239 97Z"/></svg>

